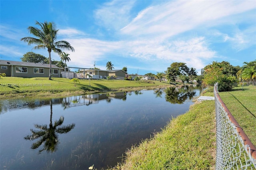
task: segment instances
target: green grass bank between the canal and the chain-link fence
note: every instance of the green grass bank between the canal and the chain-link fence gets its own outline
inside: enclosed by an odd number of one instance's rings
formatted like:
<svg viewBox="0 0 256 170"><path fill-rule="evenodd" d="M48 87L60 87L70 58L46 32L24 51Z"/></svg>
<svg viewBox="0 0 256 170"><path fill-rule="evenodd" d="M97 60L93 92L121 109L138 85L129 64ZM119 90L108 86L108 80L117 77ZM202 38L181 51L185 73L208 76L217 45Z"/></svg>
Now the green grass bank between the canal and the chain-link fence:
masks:
<svg viewBox="0 0 256 170"><path fill-rule="evenodd" d="M132 146L114 170L214 169L214 101L192 105L154 138Z"/></svg>

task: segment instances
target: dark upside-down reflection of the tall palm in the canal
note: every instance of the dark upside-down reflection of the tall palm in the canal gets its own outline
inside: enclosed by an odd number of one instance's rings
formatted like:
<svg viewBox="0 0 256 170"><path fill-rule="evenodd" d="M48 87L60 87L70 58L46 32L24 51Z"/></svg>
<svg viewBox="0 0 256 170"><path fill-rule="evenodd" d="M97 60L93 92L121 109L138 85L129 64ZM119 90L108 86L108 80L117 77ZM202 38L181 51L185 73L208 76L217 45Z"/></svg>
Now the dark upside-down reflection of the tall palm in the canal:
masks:
<svg viewBox="0 0 256 170"><path fill-rule="evenodd" d="M56 146L58 144L58 133L68 133L70 130L72 130L75 127L75 124L70 124L67 126L62 126L62 123L64 122L64 117L61 116L58 121L54 121L54 124L52 124L52 102L50 100L50 108L51 108L51 114L50 114L50 125L49 128L47 125L38 125L35 124L34 127L38 128L39 130L33 130L30 129L31 133L30 135L27 135L24 137L26 140L35 140L40 138L37 142L33 143L31 148L36 149L41 144L44 143L44 146L41 150L39 150L39 153L43 150L46 150L47 152L54 152L56 150Z"/></svg>

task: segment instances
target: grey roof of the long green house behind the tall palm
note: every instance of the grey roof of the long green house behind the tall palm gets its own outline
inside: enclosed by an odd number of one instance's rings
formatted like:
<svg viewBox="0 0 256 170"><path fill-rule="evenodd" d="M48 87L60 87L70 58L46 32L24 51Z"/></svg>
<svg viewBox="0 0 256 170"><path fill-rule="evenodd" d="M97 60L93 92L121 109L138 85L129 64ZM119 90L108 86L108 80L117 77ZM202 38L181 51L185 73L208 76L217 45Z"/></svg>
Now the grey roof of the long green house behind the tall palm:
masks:
<svg viewBox="0 0 256 170"><path fill-rule="evenodd" d="M50 68L50 64L44 63L30 63L23 61L10 61L10 60L0 60L0 65L15 65L15 66L24 66L24 67L42 67L42 68ZM53 69L60 69L56 65L52 64Z"/></svg>

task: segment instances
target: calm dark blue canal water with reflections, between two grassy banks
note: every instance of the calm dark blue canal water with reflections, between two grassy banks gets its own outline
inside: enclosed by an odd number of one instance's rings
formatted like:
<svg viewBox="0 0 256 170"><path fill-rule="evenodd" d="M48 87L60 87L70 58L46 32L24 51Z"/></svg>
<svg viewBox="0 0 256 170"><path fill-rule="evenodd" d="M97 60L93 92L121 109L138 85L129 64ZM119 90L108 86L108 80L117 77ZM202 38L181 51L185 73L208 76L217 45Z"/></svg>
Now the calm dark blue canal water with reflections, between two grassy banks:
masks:
<svg viewBox="0 0 256 170"><path fill-rule="evenodd" d="M0 101L0 169L115 166L127 148L188 111L200 87Z"/></svg>

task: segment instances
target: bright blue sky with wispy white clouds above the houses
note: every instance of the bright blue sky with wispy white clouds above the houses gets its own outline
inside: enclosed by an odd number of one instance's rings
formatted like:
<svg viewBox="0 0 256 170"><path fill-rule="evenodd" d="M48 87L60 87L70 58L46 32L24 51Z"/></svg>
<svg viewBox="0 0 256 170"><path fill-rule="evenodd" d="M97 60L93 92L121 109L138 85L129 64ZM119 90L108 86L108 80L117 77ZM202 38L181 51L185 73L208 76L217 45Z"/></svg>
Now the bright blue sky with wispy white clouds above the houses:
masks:
<svg viewBox="0 0 256 170"><path fill-rule="evenodd" d="M255 0L0 0L0 59L21 61L32 50L28 26L54 22L68 41L70 67L164 72L173 62L200 70L212 61L256 59ZM60 61L56 53L52 59Z"/></svg>

